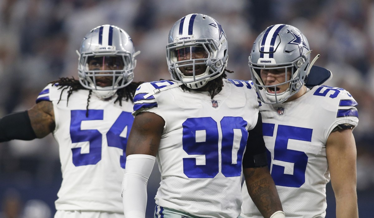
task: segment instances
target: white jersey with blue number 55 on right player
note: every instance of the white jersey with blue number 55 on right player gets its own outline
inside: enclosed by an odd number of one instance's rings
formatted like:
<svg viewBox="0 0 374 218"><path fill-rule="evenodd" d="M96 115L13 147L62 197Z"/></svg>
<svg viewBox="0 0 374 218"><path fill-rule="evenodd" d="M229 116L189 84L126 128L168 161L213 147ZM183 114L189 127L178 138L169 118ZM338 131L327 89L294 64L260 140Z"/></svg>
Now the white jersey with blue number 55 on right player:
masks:
<svg viewBox="0 0 374 218"><path fill-rule="evenodd" d="M356 105L342 88L315 86L291 102L260 107L268 164L286 217L325 217L327 138L339 124L358 124ZM245 184L242 195L242 216L262 217Z"/></svg>

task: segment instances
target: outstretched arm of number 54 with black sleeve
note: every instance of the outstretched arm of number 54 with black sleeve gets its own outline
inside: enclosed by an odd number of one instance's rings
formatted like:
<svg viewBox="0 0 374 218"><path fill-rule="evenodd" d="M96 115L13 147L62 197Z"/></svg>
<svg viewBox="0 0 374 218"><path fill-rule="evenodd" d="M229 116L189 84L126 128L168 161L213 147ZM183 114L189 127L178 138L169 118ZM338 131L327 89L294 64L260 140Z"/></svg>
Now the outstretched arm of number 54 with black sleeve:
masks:
<svg viewBox="0 0 374 218"><path fill-rule="evenodd" d="M52 102L42 101L24 112L11 113L0 119L0 142L13 139L43 138L55 129Z"/></svg>

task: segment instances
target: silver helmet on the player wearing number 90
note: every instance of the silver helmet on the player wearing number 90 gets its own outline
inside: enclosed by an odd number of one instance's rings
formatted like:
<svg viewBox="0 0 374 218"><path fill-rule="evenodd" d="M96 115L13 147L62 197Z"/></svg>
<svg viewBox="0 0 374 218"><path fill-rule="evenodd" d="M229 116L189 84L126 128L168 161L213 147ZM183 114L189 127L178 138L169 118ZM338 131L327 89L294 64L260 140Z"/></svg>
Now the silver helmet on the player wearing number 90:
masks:
<svg viewBox="0 0 374 218"><path fill-rule="evenodd" d="M227 48L226 34L215 19L203 14L184 16L171 28L166 46L171 79L189 88L203 87L223 73Z"/></svg>

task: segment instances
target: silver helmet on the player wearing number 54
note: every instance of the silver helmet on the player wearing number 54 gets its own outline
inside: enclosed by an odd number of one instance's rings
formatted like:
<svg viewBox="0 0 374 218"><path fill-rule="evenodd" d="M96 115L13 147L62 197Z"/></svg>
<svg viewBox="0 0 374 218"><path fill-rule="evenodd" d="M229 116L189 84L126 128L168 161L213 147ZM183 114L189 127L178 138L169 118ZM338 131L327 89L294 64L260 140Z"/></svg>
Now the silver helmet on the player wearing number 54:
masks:
<svg viewBox="0 0 374 218"><path fill-rule="evenodd" d="M132 82L138 53L123 29L113 25L93 28L80 46L79 82L102 99L111 97Z"/></svg>

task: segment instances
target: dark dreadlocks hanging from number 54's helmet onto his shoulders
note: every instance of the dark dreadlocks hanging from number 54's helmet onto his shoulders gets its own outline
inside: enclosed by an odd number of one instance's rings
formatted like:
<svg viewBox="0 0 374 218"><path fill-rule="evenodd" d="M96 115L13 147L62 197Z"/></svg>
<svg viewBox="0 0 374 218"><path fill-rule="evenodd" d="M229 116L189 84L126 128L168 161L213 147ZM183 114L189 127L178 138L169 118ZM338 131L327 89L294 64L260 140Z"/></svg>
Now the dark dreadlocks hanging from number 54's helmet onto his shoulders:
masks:
<svg viewBox="0 0 374 218"><path fill-rule="evenodd" d="M67 90L68 97L67 97L66 106L68 105L69 97L74 91L77 91L80 89L87 90L85 87L82 86L82 84L80 84L79 80L76 80L74 77L71 77L71 78L63 77L63 78L59 78L59 80L55 80L49 83L55 86L59 86L58 89L62 89L61 94L60 94L60 99L58 100L57 103L59 103L61 100L62 92L68 89ZM142 83L143 82L131 82L126 87L118 89L116 92L118 96L117 96L117 99L114 101L114 103L119 102L119 105L122 106L123 99L125 99L126 101L128 100L133 101L135 91L138 88L138 86ZM86 106L86 117L88 117L88 105L90 102L91 94L92 94L92 90L89 90L89 94L87 98L87 106Z"/></svg>

